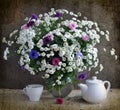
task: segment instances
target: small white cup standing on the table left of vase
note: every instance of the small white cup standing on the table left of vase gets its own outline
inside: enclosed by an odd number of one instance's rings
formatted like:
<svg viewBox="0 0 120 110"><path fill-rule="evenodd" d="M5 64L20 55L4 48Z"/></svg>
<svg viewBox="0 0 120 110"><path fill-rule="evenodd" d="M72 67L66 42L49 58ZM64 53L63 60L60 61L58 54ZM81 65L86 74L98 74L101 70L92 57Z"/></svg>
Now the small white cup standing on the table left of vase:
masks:
<svg viewBox="0 0 120 110"><path fill-rule="evenodd" d="M39 101L43 92L43 86L40 84L30 84L23 89L23 92L29 97L30 101Z"/></svg>

